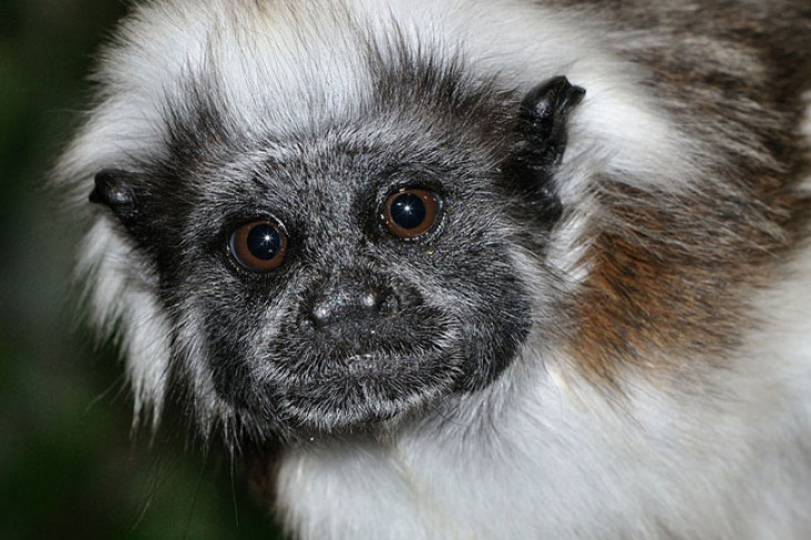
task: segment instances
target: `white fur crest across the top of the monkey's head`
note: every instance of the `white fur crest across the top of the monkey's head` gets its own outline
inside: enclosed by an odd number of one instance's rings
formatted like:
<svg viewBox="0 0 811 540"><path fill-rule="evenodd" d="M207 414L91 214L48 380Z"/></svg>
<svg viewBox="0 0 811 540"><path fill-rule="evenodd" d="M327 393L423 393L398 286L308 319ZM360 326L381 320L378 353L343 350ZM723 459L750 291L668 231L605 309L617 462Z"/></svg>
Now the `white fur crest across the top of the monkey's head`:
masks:
<svg viewBox="0 0 811 540"><path fill-rule="evenodd" d="M664 190L684 188L667 180L674 170L685 182L693 178L696 146L656 112L655 100L639 90L635 69L606 52L611 48L582 14L510 0L356 1L346 13L336 8L342 4L308 0L295 9L281 2L259 9L247 0L175 0L141 7L102 63L98 78L111 91L67 164L87 174L155 153L167 101L206 68L219 74L228 112L246 129L284 133L322 114L350 111L368 82L357 38L346 30L352 19L380 40L396 21L415 43L456 51L483 77L500 73L506 88L528 90L566 73L589 89L572 119L570 159L596 149L600 170ZM575 189L562 184L566 193Z"/></svg>

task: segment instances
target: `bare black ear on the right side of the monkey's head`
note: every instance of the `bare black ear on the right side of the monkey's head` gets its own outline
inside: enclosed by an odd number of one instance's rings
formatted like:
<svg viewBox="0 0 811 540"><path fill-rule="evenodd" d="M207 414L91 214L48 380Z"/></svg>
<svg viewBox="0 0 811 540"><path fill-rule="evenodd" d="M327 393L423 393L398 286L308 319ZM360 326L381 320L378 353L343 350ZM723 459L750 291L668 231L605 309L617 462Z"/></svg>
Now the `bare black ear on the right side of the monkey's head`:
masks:
<svg viewBox="0 0 811 540"><path fill-rule="evenodd" d="M533 88L518 110L518 142L505 173L524 196L542 202L552 214L560 213L552 180L566 149L568 116L584 97L583 88L560 76Z"/></svg>

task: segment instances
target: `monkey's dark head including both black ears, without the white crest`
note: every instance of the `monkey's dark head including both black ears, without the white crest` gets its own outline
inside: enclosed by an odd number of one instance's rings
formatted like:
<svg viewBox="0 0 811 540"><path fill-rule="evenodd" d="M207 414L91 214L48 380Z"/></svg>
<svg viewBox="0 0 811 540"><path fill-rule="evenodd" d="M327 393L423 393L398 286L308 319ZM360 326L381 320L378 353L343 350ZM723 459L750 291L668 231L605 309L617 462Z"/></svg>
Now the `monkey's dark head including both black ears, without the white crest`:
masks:
<svg viewBox="0 0 811 540"><path fill-rule="evenodd" d="M516 357L541 309L518 252L561 216L584 90L456 77L398 66L354 116L253 138L198 81L162 157L96 174L170 321L170 376L215 421L259 440L369 429Z"/></svg>

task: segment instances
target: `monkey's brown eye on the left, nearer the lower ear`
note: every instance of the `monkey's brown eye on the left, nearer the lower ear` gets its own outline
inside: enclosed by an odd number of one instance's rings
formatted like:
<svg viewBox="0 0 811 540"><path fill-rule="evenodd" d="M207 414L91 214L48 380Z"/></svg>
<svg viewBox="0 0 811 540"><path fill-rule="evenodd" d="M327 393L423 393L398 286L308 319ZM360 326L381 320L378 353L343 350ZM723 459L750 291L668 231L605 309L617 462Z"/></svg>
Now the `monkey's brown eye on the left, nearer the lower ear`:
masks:
<svg viewBox="0 0 811 540"><path fill-rule="evenodd" d="M277 221L254 221L231 233L229 248L231 257L243 268L253 272L267 272L285 260L287 234Z"/></svg>

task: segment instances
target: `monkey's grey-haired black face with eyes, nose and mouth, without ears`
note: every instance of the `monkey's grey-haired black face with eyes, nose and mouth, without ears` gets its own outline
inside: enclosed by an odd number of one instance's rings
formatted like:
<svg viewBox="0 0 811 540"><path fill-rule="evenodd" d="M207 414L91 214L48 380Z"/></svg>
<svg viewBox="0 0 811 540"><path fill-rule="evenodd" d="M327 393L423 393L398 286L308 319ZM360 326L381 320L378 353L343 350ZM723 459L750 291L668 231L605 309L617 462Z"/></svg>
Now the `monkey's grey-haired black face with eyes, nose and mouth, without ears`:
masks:
<svg viewBox="0 0 811 540"><path fill-rule="evenodd" d="M199 310L217 392L253 418L389 418L492 381L528 329L487 177L346 147L255 171L187 220L216 240L180 261L172 301Z"/></svg>

